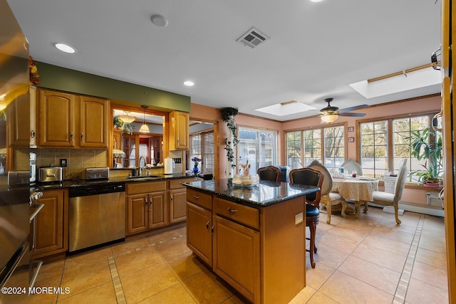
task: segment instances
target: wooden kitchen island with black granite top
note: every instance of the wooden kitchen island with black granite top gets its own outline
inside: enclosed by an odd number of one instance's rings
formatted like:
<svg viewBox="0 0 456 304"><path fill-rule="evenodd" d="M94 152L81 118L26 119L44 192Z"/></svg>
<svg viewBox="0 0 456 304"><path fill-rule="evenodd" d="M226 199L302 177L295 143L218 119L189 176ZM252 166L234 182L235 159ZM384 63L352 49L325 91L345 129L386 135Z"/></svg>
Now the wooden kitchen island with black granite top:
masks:
<svg viewBox="0 0 456 304"><path fill-rule="evenodd" d="M288 303L306 286L305 196L318 187L228 179L185 184L187 246L253 303Z"/></svg>

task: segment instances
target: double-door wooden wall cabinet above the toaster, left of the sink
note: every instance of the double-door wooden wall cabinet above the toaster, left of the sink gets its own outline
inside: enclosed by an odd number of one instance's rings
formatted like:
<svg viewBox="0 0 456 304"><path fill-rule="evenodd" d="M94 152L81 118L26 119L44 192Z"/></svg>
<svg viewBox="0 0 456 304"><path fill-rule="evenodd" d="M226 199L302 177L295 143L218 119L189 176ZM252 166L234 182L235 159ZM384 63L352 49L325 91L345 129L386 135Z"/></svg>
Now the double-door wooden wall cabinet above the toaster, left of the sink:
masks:
<svg viewBox="0 0 456 304"><path fill-rule="evenodd" d="M108 147L109 100L38 91L38 147Z"/></svg>

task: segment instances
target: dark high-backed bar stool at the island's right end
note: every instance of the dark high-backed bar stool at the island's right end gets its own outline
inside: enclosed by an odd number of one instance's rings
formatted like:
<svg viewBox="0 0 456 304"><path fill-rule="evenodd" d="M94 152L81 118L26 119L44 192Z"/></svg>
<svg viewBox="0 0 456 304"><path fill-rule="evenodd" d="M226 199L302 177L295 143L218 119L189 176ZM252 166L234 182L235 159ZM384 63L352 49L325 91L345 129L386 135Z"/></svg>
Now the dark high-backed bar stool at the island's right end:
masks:
<svg viewBox="0 0 456 304"><path fill-rule="evenodd" d="M310 253L312 268L315 268L314 253L317 251L315 246L316 225L318 225L318 219L320 218L321 185L324 177L317 169L304 167L291 170L289 179L290 184L305 184L320 188L317 192L306 195L306 226L309 227L311 235L310 238L306 238L310 241L309 249L306 249L306 251Z"/></svg>

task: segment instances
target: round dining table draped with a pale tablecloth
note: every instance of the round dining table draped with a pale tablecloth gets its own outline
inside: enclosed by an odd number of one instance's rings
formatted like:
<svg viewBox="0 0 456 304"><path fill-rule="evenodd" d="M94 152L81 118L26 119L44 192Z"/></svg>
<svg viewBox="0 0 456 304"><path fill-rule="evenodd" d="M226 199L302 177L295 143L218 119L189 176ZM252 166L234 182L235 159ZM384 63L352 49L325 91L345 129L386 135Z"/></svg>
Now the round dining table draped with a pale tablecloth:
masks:
<svg viewBox="0 0 456 304"><path fill-rule="evenodd" d="M349 211L346 200L355 202L355 211L360 214L360 206L364 204L364 212L368 211L368 201L373 201L373 192L378 189L378 179L373 177L333 177L333 187L331 192L341 194L343 200L341 214L347 217L346 211ZM352 209L353 210L353 209Z"/></svg>

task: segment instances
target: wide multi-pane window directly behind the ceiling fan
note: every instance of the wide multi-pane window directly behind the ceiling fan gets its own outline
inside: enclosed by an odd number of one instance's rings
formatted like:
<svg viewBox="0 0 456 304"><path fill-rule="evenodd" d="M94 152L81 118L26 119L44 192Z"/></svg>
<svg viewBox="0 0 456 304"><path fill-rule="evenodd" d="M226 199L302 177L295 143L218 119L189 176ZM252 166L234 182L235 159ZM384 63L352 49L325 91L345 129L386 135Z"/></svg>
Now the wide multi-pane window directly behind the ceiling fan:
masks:
<svg viewBox="0 0 456 304"><path fill-rule="evenodd" d="M318 160L328 169L338 168L343 163L343 125L286 132L286 165L296 169L307 167L314 160Z"/></svg>

